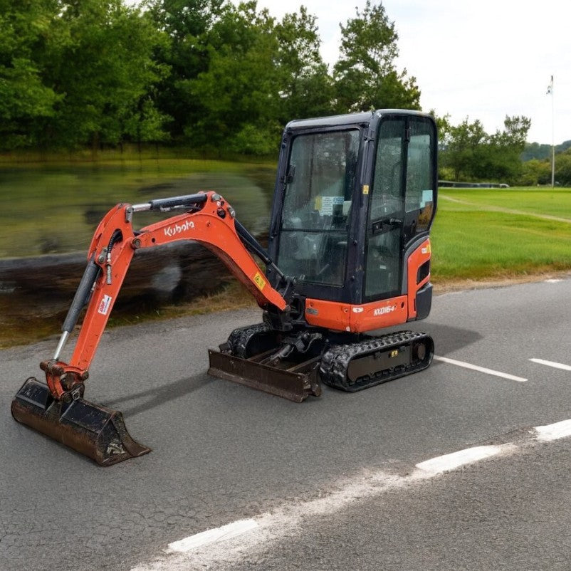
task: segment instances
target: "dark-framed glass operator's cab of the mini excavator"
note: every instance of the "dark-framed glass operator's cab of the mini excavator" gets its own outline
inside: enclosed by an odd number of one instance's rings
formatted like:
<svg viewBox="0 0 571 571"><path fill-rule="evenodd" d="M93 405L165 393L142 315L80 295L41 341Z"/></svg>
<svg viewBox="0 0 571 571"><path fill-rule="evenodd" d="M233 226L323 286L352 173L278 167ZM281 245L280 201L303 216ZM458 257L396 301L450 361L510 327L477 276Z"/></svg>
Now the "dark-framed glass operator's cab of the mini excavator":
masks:
<svg viewBox="0 0 571 571"><path fill-rule="evenodd" d="M430 261L409 264L428 239L436 188L429 115L389 110L292 121L283 136L268 253L295 277L305 302L368 305L405 295L403 321L424 318ZM272 268L267 275L276 283Z"/></svg>

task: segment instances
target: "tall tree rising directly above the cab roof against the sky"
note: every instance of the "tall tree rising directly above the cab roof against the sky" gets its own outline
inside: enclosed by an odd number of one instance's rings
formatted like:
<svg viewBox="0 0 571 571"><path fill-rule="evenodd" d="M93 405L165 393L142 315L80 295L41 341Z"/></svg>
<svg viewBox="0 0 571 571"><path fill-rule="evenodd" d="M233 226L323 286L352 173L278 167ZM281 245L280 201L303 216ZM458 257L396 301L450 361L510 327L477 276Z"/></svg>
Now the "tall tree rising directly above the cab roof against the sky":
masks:
<svg viewBox="0 0 571 571"><path fill-rule="evenodd" d="M333 68L337 111L420 109L416 79L394 65L399 35L384 6L367 0L365 9L357 9L357 16L340 28L341 55Z"/></svg>

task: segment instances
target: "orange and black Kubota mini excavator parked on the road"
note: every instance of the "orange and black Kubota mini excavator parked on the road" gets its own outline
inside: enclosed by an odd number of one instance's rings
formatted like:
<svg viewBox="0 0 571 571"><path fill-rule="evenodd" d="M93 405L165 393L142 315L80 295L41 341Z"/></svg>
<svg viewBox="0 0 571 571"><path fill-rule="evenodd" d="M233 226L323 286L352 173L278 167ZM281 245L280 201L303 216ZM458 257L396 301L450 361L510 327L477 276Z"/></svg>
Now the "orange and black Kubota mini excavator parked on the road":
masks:
<svg viewBox="0 0 571 571"><path fill-rule="evenodd" d="M425 369L431 337L394 326L426 318L431 308L436 151L434 119L421 112L289 122L267 249L213 191L117 204L95 230L56 351L40 365L46 383L26 380L11 405L14 418L103 466L150 451L131 438L120 412L83 394L132 257L182 240L209 248L263 310L261 323L209 350L209 374L301 402L318 397L321 383L353 392ZM174 216L135 230L140 211Z"/></svg>

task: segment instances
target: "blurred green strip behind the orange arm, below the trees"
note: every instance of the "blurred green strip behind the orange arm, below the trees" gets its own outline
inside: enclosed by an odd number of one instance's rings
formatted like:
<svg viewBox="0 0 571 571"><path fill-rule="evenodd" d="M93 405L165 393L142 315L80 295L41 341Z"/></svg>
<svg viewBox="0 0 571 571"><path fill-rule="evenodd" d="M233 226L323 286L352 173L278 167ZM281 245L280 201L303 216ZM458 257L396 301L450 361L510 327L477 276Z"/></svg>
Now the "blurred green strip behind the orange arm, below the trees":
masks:
<svg viewBox="0 0 571 571"><path fill-rule="evenodd" d="M0 166L0 258L85 251L119 202L216 190L253 234L268 229L275 167L199 159ZM166 216L169 216L167 214ZM157 221L136 214L135 228Z"/></svg>

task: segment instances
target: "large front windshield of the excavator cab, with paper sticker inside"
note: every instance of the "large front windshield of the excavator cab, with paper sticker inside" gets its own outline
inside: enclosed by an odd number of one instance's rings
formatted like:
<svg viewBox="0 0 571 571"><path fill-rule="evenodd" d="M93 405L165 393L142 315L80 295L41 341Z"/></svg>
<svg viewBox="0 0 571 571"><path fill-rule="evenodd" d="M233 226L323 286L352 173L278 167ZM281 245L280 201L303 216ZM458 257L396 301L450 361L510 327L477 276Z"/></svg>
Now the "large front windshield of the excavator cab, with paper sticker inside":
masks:
<svg viewBox="0 0 571 571"><path fill-rule="evenodd" d="M301 281L342 286L360 131L298 135L286 172L278 266Z"/></svg>

